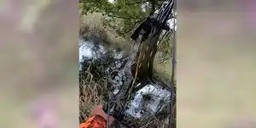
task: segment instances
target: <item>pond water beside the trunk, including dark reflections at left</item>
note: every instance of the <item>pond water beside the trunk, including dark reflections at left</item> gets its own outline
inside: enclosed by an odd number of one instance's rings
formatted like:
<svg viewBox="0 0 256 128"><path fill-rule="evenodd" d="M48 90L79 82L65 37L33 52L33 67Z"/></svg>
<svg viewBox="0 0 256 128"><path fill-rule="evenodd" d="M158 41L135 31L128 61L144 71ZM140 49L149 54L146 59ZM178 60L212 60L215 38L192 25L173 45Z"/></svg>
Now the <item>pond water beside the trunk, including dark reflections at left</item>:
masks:
<svg viewBox="0 0 256 128"><path fill-rule="evenodd" d="M123 50L104 44L100 39L79 39L80 73L90 68L95 81L108 77L108 73L120 67L121 58L124 56ZM159 84L148 84L136 92L133 100L128 104L126 115L141 119L160 113L169 104L170 96L171 92L163 89Z"/></svg>

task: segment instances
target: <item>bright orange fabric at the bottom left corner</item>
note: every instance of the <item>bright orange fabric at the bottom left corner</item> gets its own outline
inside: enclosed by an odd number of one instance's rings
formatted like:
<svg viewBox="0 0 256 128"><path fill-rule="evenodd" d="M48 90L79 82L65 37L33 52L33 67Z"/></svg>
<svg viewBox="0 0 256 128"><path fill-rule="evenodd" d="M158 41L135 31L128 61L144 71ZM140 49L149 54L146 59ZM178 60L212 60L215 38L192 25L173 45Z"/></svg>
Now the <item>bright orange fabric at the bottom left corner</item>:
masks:
<svg viewBox="0 0 256 128"><path fill-rule="evenodd" d="M106 128L107 121L100 115L90 116L79 128Z"/></svg>

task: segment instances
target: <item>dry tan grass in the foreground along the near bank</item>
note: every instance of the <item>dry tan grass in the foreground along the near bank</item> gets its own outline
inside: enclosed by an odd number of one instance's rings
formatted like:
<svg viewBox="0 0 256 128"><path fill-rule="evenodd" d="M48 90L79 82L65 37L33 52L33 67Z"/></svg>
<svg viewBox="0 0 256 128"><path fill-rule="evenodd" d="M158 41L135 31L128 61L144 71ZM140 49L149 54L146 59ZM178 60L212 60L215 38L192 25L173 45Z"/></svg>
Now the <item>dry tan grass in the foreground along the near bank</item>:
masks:
<svg viewBox="0 0 256 128"><path fill-rule="evenodd" d="M106 102L104 98L108 96L107 81L105 78L99 81L93 80L93 75L86 71L85 73L80 73L80 100L79 100L79 110L80 110L80 123L84 122L90 116L90 111L92 108L99 104ZM136 124L140 128L151 128L156 125L165 128L168 124L167 119L158 119L153 116L148 119L136 120Z"/></svg>

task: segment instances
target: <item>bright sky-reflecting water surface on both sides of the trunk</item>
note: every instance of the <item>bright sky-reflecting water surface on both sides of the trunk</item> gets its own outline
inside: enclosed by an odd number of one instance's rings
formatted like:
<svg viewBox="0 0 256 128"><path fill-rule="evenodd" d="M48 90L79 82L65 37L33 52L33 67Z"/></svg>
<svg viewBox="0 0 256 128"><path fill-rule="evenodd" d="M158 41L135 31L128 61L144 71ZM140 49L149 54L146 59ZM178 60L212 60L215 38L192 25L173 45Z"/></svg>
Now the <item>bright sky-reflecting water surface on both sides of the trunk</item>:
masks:
<svg viewBox="0 0 256 128"><path fill-rule="evenodd" d="M94 39L90 41L79 40L79 61L83 61L83 56L87 58L101 58L104 55L112 55L114 59L120 59L123 56L122 51L113 49L110 45L97 42ZM111 54L109 54L111 53ZM115 66L119 67L121 63L117 62ZM170 102L171 92L162 89L158 84L148 84L143 89L138 90L134 99L128 104L125 111L127 116L140 119L145 116L151 116L160 112Z"/></svg>

